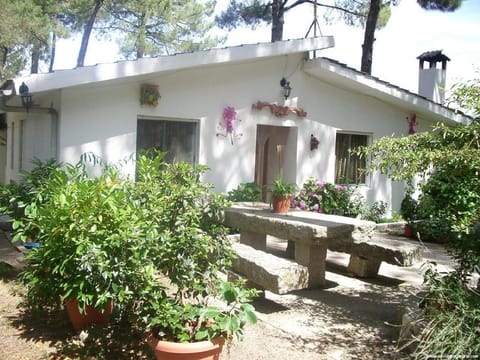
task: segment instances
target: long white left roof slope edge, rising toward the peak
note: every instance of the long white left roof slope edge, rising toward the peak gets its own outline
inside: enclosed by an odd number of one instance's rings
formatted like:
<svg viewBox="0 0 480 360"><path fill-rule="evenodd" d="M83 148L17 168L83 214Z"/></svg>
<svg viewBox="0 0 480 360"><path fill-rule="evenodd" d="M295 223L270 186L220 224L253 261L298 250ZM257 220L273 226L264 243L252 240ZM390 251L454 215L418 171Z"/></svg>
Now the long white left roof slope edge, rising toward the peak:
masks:
<svg viewBox="0 0 480 360"><path fill-rule="evenodd" d="M239 45L154 58L97 64L46 74L33 74L15 79L15 84L18 86L18 84L24 81L28 84L32 93L38 93L107 81L125 81L128 78L148 77L154 73L178 71L185 68L303 53L333 46L333 36Z"/></svg>

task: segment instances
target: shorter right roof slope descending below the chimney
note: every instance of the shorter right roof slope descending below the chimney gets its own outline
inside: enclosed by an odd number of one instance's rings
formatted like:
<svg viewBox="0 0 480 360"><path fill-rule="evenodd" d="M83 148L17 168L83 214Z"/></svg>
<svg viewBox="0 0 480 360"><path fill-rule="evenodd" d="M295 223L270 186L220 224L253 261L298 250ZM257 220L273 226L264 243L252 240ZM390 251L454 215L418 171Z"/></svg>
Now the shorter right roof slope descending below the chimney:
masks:
<svg viewBox="0 0 480 360"><path fill-rule="evenodd" d="M472 121L471 117L458 110L443 106L424 96L348 67L333 59L316 58L308 60L304 66L304 71L333 86L379 99L435 121L449 124L469 124Z"/></svg>

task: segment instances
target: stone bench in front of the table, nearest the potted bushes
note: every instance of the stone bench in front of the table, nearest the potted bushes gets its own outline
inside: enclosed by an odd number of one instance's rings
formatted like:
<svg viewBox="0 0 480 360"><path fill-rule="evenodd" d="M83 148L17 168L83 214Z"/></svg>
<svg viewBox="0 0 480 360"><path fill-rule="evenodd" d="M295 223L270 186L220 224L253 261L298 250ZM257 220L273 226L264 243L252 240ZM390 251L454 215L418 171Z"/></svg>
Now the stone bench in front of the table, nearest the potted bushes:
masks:
<svg viewBox="0 0 480 360"><path fill-rule="evenodd" d="M245 277L252 287L286 294L308 287L308 268L251 246L233 243L237 257L232 270Z"/></svg>

